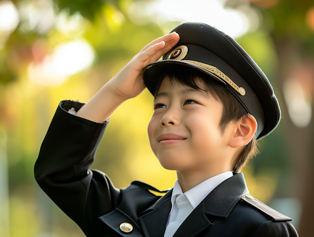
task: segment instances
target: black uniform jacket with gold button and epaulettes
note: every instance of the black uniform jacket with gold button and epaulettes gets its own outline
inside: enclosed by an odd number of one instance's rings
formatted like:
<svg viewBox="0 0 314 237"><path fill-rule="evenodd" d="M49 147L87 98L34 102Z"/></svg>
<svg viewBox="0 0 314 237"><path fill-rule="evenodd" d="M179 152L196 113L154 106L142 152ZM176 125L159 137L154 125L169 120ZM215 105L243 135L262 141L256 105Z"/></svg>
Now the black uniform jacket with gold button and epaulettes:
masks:
<svg viewBox="0 0 314 237"><path fill-rule="evenodd" d="M89 170L105 123L71 115L82 104L62 101L35 164L40 187L88 237L163 237L171 209L171 193L134 181L117 189L102 172ZM63 108L63 109L62 109ZM218 185L179 227L174 237L297 237L291 219L249 194L242 173ZM130 223L131 233L120 230Z"/></svg>

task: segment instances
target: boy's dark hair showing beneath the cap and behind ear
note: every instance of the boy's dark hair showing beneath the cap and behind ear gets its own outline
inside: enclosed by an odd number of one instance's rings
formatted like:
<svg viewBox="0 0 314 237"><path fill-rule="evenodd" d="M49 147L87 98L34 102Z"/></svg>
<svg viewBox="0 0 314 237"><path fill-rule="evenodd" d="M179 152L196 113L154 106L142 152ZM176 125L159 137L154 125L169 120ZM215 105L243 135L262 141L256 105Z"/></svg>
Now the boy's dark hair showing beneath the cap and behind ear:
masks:
<svg viewBox="0 0 314 237"><path fill-rule="evenodd" d="M221 83L209 75L188 66L176 66L165 72L157 85L155 96L160 88L162 79L168 77L170 85L181 83L183 86L196 90L202 90L211 95L217 101L223 104L222 117L219 123L221 133L225 132L230 122L237 122L241 118L247 118L248 113L232 93ZM201 79L201 80L200 80ZM239 155L233 168L234 173L239 173L245 163L259 153L258 142L254 135L253 139L245 145L242 153Z"/></svg>

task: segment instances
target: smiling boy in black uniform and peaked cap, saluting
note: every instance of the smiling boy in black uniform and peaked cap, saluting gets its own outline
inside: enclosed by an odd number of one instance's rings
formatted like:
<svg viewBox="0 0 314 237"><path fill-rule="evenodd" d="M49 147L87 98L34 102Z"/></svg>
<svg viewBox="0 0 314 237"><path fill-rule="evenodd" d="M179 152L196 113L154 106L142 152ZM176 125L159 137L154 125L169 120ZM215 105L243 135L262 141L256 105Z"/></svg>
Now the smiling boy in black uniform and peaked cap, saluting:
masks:
<svg viewBox="0 0 314 237"><path fill-rule="evenodd" d="M35 164L37 182L89 237L298 236L289 217L249 195L239 173L281 117L266 76L206 24L174 31L145 46L87 104L60 103ZM145 87L155 97L151 148L178 175L161 198L148 184L117 189L88 170L111 114Z"/></svg>

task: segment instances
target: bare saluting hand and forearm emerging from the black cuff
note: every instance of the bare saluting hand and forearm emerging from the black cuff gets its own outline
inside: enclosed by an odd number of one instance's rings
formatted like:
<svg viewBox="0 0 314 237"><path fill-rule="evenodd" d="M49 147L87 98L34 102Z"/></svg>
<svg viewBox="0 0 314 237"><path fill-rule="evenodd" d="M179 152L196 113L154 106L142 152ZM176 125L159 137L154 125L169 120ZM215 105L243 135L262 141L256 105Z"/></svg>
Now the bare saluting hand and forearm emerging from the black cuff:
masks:
<svg viewBox="0 0 314 237"><path fill-rule="evenodd" d="M176 32L166 34L146 45L130 62L76 114L94 122L104 122L124 101L136 97L144 89L143 68L157 61L179 41Z"/></svg>

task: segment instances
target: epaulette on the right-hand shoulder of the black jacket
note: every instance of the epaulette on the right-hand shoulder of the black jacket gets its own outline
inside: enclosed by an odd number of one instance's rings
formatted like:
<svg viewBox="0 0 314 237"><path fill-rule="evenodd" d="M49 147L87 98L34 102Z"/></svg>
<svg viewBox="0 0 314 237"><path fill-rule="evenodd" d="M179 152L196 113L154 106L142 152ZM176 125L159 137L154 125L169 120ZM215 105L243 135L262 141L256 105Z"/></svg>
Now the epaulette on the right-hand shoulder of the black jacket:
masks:
<svg viewBox="0 0 314 237"><path fill-rule="evenodd" d="M246 202L247 204L259 209L260 211L262 211L263 213L269 215L270 217L272 217L276 222L279 221L291 221L292 219L288 216L285 216L284 214L281 214L280 212L274 210L271 207L268 207L267 205L263 204L262 202L260 202L259 200L253 198L250 195L245 195L241 198L241 200L243 200L244 202Z"/></svg>

